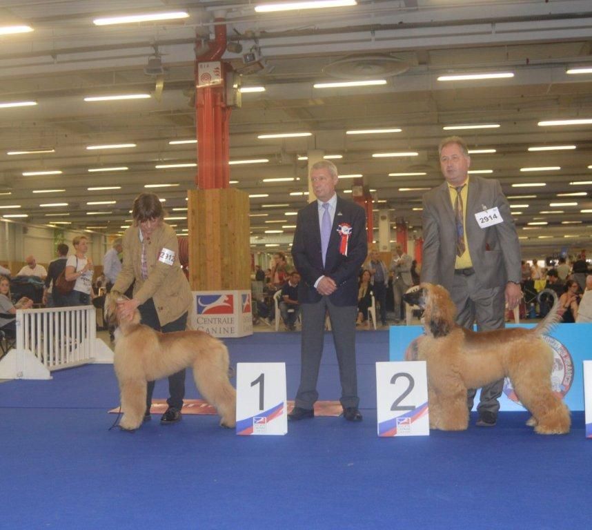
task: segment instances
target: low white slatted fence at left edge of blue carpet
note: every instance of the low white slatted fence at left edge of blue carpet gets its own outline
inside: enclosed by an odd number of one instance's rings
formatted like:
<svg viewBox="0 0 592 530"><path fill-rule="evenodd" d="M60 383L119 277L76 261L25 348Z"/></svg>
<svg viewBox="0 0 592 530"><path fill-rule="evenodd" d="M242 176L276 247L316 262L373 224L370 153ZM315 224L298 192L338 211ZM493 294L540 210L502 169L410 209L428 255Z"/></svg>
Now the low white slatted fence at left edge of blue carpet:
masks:
<svg viewBox="0 0 592 530"><path fill-rule="evenodd" d="M16 324L16 349L0 361L0 378L49 379L52 370L112 362L93 306L19 309Z"/></svg>

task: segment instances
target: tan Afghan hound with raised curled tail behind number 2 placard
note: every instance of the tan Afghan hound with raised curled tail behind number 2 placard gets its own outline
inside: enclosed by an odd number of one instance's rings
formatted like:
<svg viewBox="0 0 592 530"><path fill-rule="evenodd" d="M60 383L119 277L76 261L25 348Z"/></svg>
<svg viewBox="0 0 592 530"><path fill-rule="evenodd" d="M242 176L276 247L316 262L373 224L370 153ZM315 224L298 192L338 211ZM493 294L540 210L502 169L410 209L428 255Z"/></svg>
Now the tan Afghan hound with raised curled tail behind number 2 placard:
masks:
<svg viewBox="0 0 592 530"><path fill-rule="evenodd" d="M455 304L440 285L422 284L404 300L424 309L426 335L418 341L416 360L427 363L431 429L466 429L467 390L509 377L532 414L527 425L540 434L569 432L569 409L551 389L553 351L542 339L560 318L558 300L535 328L479 333L455 324Z"/></svg>

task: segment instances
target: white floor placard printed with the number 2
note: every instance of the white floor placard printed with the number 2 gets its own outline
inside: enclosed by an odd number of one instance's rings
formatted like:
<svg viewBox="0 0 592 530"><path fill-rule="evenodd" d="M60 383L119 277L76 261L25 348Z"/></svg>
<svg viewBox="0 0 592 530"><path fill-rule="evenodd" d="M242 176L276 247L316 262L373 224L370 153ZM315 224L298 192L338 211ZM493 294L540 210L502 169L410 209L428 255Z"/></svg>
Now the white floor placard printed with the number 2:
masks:
<svg viewBox="0 0 592 530"><path fill-rule="evenodd" d="M429 435L426 362L377 362L376 404L379 436Z"/></svg>

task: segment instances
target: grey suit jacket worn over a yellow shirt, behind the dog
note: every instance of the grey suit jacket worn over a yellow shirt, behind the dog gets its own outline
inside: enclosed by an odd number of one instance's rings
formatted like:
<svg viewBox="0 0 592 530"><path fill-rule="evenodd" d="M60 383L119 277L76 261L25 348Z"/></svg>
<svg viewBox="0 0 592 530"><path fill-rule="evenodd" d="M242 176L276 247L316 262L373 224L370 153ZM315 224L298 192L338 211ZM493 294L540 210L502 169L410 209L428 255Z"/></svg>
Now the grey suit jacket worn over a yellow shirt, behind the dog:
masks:
<svg viewBox="0 0 592 530"><path fill-rule="evenodd" d="M503 222L481 228L475 213L497 206ZM441 284L451 291L455 266L454 210L444 181L424 195L422 282ZM465 219L468 252L483 288L520 283L520 244L510 206L500 182L471 176Z"/></svg>

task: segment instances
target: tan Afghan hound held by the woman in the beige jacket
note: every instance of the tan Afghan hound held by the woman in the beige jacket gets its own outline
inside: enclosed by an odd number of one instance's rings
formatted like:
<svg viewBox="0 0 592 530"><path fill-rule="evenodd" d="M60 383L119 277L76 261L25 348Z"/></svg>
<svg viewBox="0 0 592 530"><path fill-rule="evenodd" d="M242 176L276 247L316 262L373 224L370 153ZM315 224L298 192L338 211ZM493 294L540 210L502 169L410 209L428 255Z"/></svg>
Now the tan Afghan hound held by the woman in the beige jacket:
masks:
<svg viewBox="0 0 592 530"><path fill-rule="evenodd" d="M121 393L119 426L126 431L137 429L146 412L146 383L168 377L179 370L193 368L197 389L216 407L221 426L236 424L235 389L228 381L228 350L224 344L203 331L159 333L140 324L139 311L124 322L119 318L119 293L105 300L106 320L118 326L115 331L115 375Z"/></svg>

